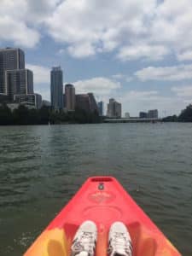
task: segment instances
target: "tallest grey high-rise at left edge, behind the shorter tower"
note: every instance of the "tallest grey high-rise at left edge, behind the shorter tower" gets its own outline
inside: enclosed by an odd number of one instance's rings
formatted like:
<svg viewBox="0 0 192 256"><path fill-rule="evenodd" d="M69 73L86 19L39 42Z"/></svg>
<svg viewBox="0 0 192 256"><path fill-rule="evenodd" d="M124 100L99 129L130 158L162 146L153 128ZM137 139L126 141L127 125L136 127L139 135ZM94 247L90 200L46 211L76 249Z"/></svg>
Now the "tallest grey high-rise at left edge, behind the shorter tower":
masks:
<svg viewBox="0 0 192 256"><path fill-rule="evenodd" d="M8 95L6 71L25 68L25 54L19 48L0 49L0 94Z"/></svg>

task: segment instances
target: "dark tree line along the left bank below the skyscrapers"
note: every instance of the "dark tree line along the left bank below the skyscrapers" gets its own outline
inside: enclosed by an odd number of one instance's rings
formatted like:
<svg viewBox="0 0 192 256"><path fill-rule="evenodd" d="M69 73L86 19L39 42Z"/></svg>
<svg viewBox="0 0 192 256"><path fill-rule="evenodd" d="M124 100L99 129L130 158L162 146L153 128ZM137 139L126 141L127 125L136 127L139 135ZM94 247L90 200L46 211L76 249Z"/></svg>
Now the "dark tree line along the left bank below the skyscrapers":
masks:
<svg viewBox="0 0 192 256"><path fill-rule="evenodd" d="M40 109L29 109L20 105L13 111L6 104L0 106L0 125L94 124L100 122L102 118L97 111L88 113L79 108L66 113L45 106Z"/></svg>

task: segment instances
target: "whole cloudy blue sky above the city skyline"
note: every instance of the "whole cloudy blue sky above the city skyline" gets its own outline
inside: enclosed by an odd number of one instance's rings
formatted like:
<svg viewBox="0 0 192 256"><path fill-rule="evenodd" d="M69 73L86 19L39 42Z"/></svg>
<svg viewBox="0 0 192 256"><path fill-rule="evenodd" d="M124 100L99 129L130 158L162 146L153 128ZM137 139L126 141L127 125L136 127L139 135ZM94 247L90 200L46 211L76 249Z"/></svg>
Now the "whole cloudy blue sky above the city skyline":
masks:
<svg viewBox="0 0 192 256"><path fill-rule="evenodd" d="M192 103L191 0L0 0L0 48L20 47L34 90L49 72L123 113L178 114Z"/></svg>

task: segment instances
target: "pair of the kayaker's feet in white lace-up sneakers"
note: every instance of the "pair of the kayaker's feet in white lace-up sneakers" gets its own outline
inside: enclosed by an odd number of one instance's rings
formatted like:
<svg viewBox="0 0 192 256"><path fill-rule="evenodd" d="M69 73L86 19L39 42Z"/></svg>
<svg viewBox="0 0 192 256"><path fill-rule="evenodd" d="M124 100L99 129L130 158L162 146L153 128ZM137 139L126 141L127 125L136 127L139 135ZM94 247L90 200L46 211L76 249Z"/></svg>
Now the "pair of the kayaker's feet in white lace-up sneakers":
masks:
<svg viewBox="0 0 192 256"><path fill-rule="evenodd" d="M96 250L96 224L90 220L80 225L73 238L71 256L94 256ZM108 256L131 256L131 237L122 222L114 222L108 235Z"/></svg>

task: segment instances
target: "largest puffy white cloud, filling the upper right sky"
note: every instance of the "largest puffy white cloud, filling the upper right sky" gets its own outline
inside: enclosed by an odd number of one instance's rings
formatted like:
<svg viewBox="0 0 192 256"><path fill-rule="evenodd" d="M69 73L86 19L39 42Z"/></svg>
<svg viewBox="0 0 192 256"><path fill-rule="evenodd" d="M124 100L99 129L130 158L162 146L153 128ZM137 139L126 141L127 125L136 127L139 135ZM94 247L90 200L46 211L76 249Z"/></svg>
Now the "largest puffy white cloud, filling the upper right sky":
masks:
<svg viewBox="0 0 192 256"><path fill-rule="evenodd" d="M69 53L75 57L117 49L123 61L157 61L191 46L191 12L190 0L66 0L45 23L55 40L72 44ZM75 55L79 44L89 45L89 50Z"/></svg>

